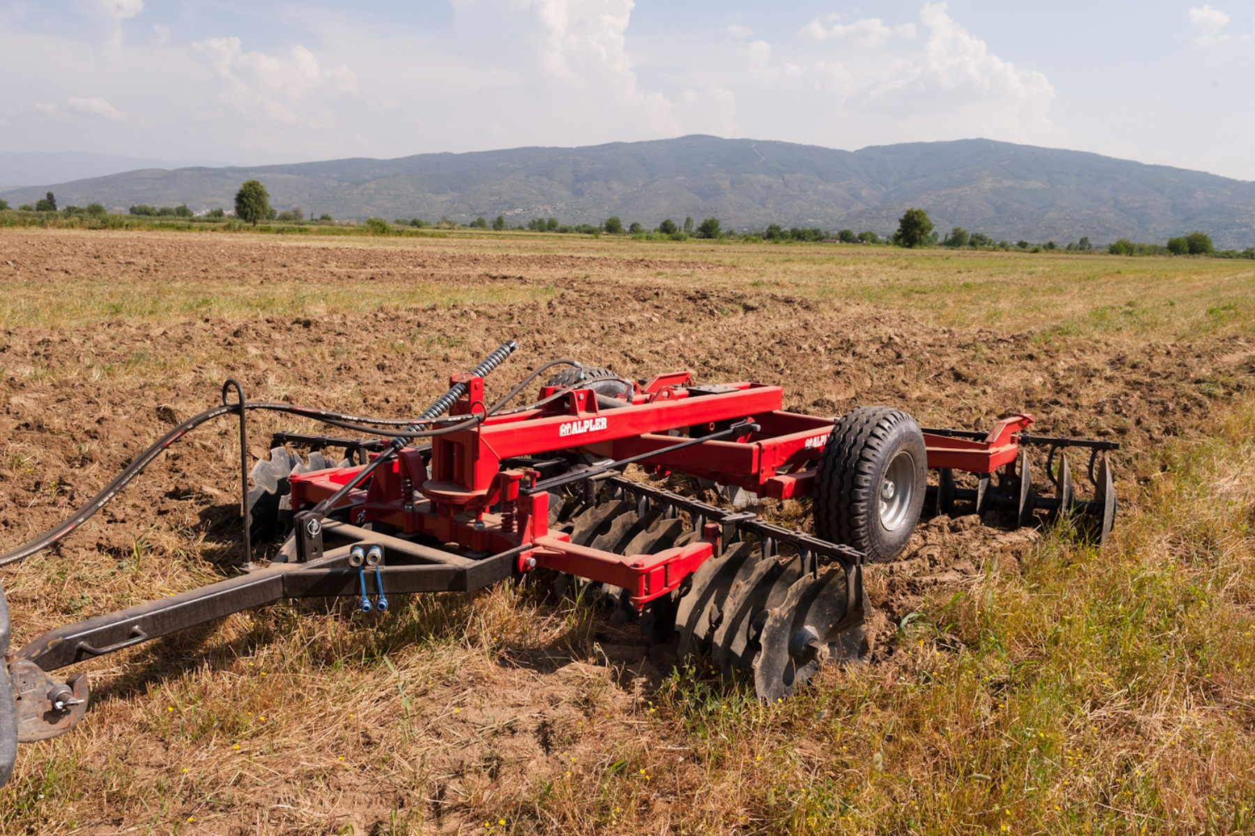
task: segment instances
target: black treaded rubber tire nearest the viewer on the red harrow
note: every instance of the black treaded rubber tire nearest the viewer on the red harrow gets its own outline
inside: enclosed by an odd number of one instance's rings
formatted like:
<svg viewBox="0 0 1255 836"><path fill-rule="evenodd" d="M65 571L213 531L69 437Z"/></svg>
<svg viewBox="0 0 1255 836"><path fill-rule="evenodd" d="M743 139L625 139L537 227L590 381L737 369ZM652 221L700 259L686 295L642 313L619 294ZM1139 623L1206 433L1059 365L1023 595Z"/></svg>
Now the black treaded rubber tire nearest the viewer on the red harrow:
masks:
<svg viewBox="0 0 1255 836"><path fill-rule="evenodd" d="M881 486L900 452L914 462L910 498L892 529L881 520ZM906 468L906 464L900 465ZM906 412L860 406L833 427L820 456L814 484L814 529L831 543L858 549L872 563L892 560L910 540L924 508L927 451L924 434Z"/></svg>

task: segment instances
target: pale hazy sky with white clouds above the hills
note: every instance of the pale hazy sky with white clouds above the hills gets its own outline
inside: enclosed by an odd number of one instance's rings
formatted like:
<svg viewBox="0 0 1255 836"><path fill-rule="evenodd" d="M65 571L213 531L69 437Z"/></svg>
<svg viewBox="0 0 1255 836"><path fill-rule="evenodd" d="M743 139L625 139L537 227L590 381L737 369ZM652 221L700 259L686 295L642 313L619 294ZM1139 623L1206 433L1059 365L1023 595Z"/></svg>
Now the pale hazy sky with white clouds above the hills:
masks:
<svg viewBox="0 0 1255 836"><path fill-rule="evenodd" d="M259 164L988 137L1255 180L1251 6L0 0L0 150Z"/></svg>

